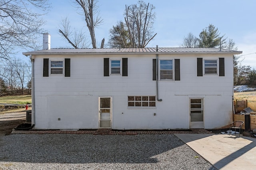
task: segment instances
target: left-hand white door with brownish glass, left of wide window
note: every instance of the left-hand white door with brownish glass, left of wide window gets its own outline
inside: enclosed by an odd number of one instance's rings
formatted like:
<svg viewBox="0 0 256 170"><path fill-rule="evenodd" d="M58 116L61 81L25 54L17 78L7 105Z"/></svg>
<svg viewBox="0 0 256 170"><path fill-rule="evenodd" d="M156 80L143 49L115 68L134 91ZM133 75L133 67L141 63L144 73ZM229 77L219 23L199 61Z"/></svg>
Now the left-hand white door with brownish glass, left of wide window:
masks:
<svg viewBox="0 0 256 170"><path fill-rule="evenodd" d="M111 128L111 97L99 97L99 128Z"/></svg>

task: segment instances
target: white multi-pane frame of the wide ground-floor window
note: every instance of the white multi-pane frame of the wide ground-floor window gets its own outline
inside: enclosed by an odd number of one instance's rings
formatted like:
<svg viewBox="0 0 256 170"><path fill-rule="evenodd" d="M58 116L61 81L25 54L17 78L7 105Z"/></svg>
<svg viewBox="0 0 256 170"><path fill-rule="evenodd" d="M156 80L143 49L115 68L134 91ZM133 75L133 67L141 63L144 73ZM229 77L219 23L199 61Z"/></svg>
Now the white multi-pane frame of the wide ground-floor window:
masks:
<svg viewBox="0 0 256 170"><path fill-rule="evenodd" d="M129 100L129 97L134 97L134 100ZM136 100L136 97L141 97L140 100ZM145 99L145 97L148 97L148 100L143 100L143 97ZM154 97L155 100L154 101L150 101L150 97ZM139 104L140 106L136 106L136 102ZM150 102L154 103L154 106L150 106ZM129 103L134 103L133 106L129 106ZM144 104L148 103L147 106L143 106ZM146 96L146 95L136 95L136 96L128 96L128 108L156 108L156 96Z"/></svg>

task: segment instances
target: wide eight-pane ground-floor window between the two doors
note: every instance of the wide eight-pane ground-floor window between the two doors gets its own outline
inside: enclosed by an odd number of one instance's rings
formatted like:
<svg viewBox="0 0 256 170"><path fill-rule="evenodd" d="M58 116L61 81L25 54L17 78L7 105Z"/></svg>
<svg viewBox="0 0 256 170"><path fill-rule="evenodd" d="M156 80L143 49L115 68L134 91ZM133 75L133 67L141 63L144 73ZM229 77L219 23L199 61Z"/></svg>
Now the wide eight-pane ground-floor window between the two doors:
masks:
<svg viewBox="0 0 256 170"><path fill-rule="evenodd" d="M128 96L128 107L156 107L156 96Z"/></svg>

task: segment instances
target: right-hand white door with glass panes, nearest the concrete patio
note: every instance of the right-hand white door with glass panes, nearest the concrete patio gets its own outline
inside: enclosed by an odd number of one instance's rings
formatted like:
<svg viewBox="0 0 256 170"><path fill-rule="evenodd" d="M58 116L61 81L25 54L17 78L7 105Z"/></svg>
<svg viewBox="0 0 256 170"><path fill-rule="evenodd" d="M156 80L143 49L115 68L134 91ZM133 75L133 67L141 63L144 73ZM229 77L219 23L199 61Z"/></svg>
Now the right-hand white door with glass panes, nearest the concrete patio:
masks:
<svg viewBox="0 0 256 170"><path fill-rule="evenodd" d="M204 128L203 101L190 98L190 128Z"/></svg>

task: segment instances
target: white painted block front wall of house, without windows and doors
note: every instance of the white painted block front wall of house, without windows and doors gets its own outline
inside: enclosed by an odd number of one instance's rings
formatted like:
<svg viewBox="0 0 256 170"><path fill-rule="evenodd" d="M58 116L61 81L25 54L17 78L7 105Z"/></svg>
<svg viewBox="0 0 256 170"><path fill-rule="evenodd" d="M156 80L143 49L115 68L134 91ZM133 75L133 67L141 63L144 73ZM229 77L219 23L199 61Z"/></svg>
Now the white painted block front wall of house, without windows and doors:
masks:
<svg viewBox="0 0 256 170"><path fill-rule="evenodd" d="M33 57L35 129L97 129L99 96L112 97L113 129L188 129L189 98L196 96L204 97L205 128L223 127L232 119L232 55L158 55L159 59L180 59L180 81L159 81L162 101L146 109L128 108L128 96L156 95L156 81L152 80L155 55ZM104 77L104 57L128 57L128 77ZM197 57L225 57L225 76L197 77ZM43 77L43 58L70 58L70 77Z"/></svg>

